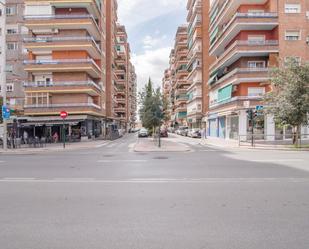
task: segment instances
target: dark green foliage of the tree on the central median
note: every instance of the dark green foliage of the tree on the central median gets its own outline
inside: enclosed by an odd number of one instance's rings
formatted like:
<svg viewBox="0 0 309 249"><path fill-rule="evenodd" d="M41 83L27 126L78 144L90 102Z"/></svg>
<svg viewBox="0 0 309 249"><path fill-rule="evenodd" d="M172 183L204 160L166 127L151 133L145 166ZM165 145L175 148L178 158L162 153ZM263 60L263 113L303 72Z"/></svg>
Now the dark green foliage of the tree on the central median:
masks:
<svg viewBox="0 0 309 249"><path fill-rule="evenodd" d="M152 130L158 127L164 119L163 98L160 88L153 89L151 79L148 84L139 92L140 118L145 128Z"/></svg>

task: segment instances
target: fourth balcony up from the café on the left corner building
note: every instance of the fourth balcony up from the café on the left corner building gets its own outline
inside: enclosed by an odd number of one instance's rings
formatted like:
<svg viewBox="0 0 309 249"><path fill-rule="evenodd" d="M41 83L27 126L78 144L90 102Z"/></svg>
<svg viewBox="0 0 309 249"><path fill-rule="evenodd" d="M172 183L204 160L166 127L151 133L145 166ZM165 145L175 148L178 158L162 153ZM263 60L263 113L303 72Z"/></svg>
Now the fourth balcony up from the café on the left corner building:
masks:
<svg viewBox="0 0 309 249"><path fill-rule="evenodd" d="M101 59L99 45L90 36L85 37L33 37L24 38L24 46L34 54L42 51L75 51L85 50L93 59Z"/></svg>

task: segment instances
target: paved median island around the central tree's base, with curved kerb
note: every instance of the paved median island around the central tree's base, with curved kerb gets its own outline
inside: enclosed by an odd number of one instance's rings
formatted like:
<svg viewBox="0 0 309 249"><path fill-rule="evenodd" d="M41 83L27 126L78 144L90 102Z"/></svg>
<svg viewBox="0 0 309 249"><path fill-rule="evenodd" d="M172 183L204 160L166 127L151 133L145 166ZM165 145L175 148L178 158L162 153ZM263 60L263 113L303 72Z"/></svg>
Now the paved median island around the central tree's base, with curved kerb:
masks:
<svg viewBox="0 0 309 249"><path fill-rule="evenodd" d="M181 143L175 143L169 138L161 140L161 148L152 138L140 138L134 145L135 152L188 152L190 147Z"/></svg>

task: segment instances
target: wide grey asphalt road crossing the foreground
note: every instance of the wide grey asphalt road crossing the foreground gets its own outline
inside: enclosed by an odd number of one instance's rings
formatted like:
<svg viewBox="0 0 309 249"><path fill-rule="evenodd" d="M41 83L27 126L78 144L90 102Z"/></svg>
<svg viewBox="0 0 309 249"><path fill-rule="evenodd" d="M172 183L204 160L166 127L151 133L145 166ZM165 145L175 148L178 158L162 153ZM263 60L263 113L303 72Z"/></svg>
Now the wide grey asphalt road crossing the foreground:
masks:
<svg viewBox="0 0 309 249"><path fill-rule="evenodd" d="M308 249L309 153L0 155L1 249Z"/></svg>

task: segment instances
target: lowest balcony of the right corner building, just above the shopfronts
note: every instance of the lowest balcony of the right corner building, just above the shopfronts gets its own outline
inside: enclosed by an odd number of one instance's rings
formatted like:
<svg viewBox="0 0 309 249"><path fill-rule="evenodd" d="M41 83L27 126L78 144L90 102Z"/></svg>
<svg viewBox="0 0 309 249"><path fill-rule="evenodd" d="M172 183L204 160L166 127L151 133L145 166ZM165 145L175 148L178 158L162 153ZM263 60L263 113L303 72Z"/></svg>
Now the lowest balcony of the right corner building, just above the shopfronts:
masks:
<svg viewBox="0 0 309 249"><path fill-rule="evenodd" d="M237 110L244 108L244 102L250 101L251 105L258 105L263 100L262 96L237 96L233 97L224 101L221 101L219 103L211 103L209 108L210 110L221 108L221 107L228 107L232 110Z"/></svg>

